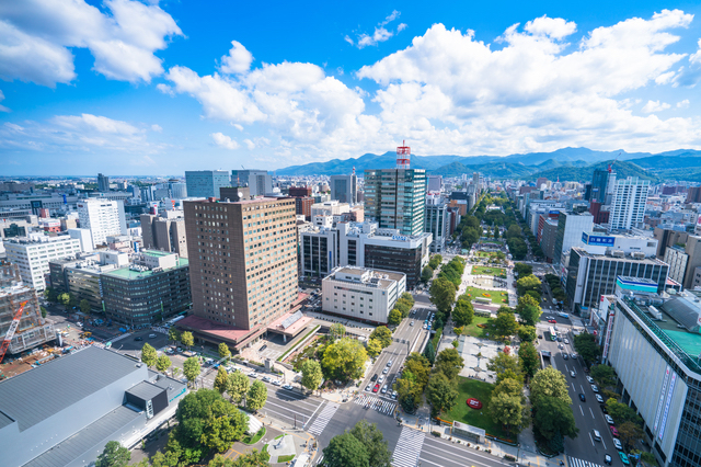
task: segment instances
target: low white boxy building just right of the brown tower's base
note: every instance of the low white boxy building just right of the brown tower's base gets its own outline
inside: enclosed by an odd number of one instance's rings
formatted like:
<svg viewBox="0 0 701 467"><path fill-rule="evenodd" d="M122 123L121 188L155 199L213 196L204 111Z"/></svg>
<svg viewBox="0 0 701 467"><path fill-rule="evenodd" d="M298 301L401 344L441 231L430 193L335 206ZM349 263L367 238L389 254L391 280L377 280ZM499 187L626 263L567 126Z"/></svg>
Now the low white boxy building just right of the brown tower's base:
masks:
<svg viewBox="0 0 701 467"><path fill-rule="evenodd" d="M360 321L386 324L397 300L406 292L406 275L344 266L321 282L322 310Z"/></svg>

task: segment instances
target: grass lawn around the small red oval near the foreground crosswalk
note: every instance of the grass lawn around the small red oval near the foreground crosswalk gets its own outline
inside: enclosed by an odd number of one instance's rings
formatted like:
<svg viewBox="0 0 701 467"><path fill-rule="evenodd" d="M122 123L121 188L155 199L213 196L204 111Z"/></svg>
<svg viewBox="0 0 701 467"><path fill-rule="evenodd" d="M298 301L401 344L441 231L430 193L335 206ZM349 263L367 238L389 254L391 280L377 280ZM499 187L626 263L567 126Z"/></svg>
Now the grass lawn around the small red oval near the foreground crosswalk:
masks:
<svg viewBox="0 0 701 467"><path fill-rule="evenodd" d="M487 413L486 406L490 403L494 385L479 381L476 379L464 378L458 376L458 402L449 412L444 412L440 418L448 421L459 421L473 426L479 426L493 436L515 440L515 435L509 435L502 429L502 424L494 422ZM482 402L482 409L475 410L468 407L469 398L479 399Z"/></svg>

